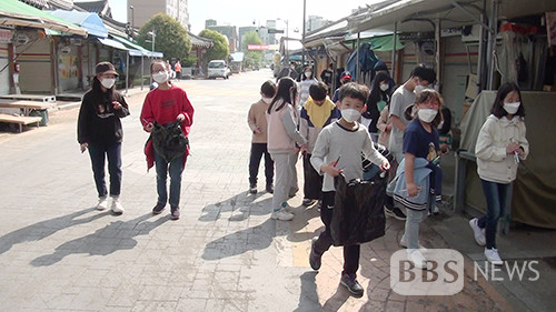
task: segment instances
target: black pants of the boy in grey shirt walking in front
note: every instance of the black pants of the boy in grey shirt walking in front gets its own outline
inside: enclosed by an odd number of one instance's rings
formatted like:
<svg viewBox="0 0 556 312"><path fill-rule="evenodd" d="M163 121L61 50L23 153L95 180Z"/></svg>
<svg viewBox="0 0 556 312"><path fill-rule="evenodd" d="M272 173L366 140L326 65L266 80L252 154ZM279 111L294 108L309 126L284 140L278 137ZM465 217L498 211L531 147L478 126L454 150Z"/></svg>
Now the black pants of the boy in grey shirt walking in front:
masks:
<svg viewBox="0 0 556 312"><path fill-rule="evenodd" d="M336 192L322 192L322 207L320 208L320 220L325 223L325 231L320 233L315 243L317 253L325 253L332 245L330 235L330 221L332 220L334 197ZM344 271L342 274L355 274L359 269L360 245L344 246Z"/></svg>

